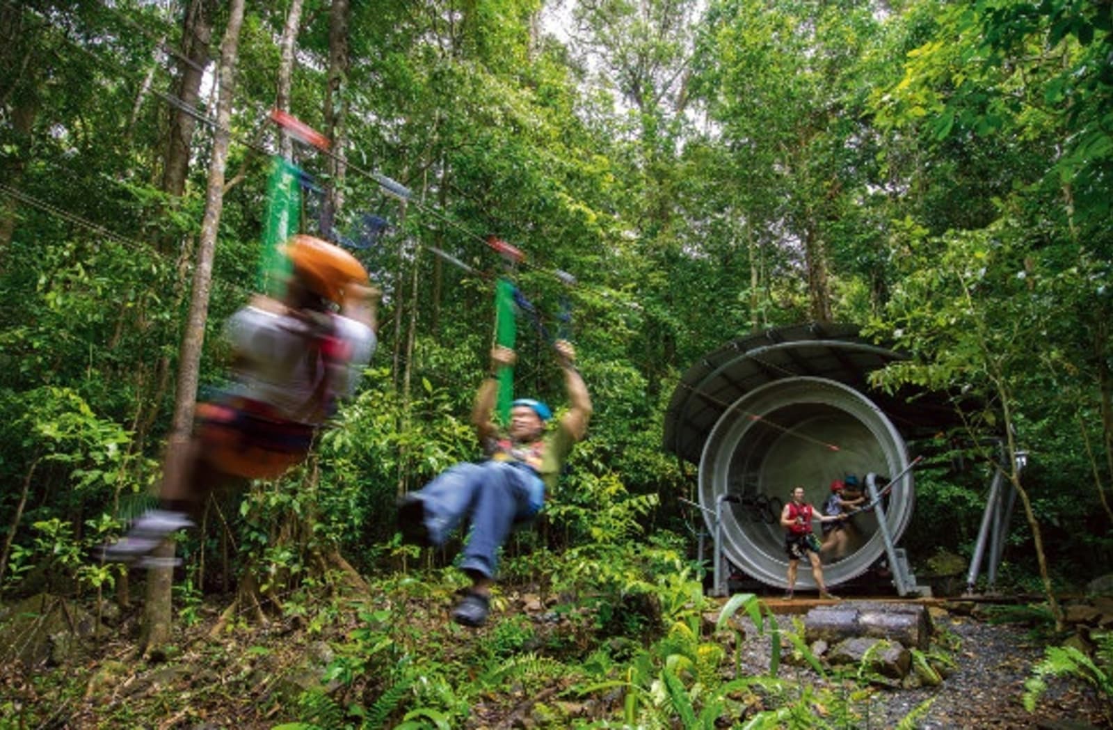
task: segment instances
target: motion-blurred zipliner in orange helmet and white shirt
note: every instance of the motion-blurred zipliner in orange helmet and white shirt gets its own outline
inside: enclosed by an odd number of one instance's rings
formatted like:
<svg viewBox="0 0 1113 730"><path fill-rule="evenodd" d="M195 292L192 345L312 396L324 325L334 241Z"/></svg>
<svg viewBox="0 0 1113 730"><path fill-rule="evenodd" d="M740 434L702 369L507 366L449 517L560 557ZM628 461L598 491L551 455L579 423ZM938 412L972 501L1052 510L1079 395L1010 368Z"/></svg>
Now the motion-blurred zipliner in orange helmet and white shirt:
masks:
<svg viewBox="0 0 1113 730"><path fill-rule="evenodd" d="M318 238L294 236L283 253L285 294L255 295L228 320L230 385L198 403L188 443L167 452L158 506L102 549L105 561L154 564L150 553L193 526L214 489L302 462L336 401L354 393L375 352L381 292L354 256Z"/></svg>

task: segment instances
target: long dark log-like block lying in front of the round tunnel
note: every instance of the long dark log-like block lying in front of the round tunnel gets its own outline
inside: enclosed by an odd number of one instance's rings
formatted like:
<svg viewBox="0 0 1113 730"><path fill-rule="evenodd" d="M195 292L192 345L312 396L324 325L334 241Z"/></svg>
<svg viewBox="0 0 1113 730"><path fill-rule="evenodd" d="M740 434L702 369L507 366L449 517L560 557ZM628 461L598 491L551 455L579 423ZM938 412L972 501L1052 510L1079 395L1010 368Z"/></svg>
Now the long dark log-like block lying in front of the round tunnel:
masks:
<svg viewBox="0 0 1113 730"><path fill-rule="evenodd" d="M927 608L914 603L844 601L816 606L804 618L805 638L809 643L823 640L835 644L843 639L868 637L926 650L932 641L932 629Z"/></svg>

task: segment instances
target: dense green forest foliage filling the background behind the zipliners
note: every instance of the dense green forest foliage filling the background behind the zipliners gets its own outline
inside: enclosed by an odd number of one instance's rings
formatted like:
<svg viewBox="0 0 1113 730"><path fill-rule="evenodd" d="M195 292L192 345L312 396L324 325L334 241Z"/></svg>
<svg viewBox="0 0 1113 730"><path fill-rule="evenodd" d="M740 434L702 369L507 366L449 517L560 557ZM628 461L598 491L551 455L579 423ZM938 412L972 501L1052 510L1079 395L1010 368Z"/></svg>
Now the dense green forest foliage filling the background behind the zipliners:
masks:
<svg viewBox="0 0 1113 730"><path fill-rule="evenodd" d="M134 515L158 477L213 138L199 122L185 190L168 193L167 98L188 4L0 4L0 534L11 545L0 590L10 594L114 585L115 569L81 569L82 551ZM966 414L971 427L1004 423L1011 447L1032 454L1022 479L1054 579L1105 570L1110 3L548 4L352 3L338 87L351 167L332 177L307 148L296 161L343 190L345 235L358 237L366 214L392 223L358 251L386 292L380 349L304 467L211 505L184 546L183 596L249 574L278 605L321 580L329 555L365 573L413 566L394 500L477 455L465 418L493 316L490 282L430 247L496 272L489 234L526 251L519 284L550 331L571 302L595 404L544 522L508 546L512 580L590 581L605 606L607 590L652 593L680 571L692 550L676 499L693 472L660 448L679 373L732 337L809 318L868 325L908 352L877 375L880 387L984 404ZM318 128L329 9L306 0L292 79L292 111ZM240 39L203 383L223 377L220 328L255 282L268 162L256 148L275 148L267 114L286 10L249 3ZM562 18L568 32L542 18ZM372 170L410 187L414 205L385 195ZM553 269L579 284L565 288ZM546 344L525 319L520 338L518 388L560 403ZM947 548L969 553L993 455L965 456L965 473L945 457L918 477L914 561L934 554L939 525L958 537ZM1006 552L1006 578L1024 586L1032 539L1017 521ZM671 701L697 722L700 707L678 684L699 673L700 647L688 649L669 650L688 658L682 672L661 665L660 644L646 649L631 664L643 673L627 682L641 687L639 702ZM394 687L414 681L404 662L391 667ZM540 681L548 670L539 660L514 671Z"/></svg>

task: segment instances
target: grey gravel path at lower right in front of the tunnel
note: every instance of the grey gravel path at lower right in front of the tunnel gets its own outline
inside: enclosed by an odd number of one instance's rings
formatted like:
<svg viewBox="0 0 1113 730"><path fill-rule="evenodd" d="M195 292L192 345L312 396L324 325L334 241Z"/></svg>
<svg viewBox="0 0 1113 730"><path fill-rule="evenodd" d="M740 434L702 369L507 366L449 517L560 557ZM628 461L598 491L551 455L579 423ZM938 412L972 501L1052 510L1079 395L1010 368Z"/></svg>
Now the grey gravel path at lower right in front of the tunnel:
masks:
<svg viewBox="0 0 1113 730"><path fill-rule="evenodd" d="M784 616L787 621L788 616ZM781 623L785 625L785 622ZM894 728L920 703L934 698L930 709L917 722L923 730L967 730L971 728L1105 728L1110 708L1096 692L1078 680L1053 678L1036 711L1028 713L1021 702L1024 681L1032 665L1043 658L1043 648L1016 625L994 625L965 616L936 620L961 640L953 652L957 669L938 687L916 689L878 688L868 707L858 707L859 728ZM769 638L746 627L743 645L746 671L768 670ZM784 665L779 675L801 682L818 682L810 668ZM1068 724L1070 722L1078 724Z"/></svg>

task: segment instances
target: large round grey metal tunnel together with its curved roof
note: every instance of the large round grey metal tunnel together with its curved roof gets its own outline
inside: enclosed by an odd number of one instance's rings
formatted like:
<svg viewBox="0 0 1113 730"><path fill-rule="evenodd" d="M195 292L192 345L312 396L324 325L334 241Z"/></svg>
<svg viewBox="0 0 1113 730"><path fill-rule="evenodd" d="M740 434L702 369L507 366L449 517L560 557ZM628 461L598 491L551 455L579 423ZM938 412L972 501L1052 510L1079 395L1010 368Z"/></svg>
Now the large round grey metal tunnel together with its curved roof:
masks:
<svg viewBox="0 0 1113 730"><path fill-rule="evenodd" d="M858 336L850 325L807 325L737 339L683 375L666 418L664 445L699 465L699 501L711 511L721 494L738 497L723 513L723 553L745 573L785 586L780 509L791 489L821 506L835 479L878 474L884 482L908 465L905 438L953 420L940 398L869 389L868 373L899 359ZM913 516L914 489L885 502L889 534L898 539ZM712 520L709 530L713 530ZM816 524L819 533L819 525ZM856 515L844 558L825 558L837 584L867 571L884 553L877 513ZM814 588L802 566L797 584Z"/></svg>

